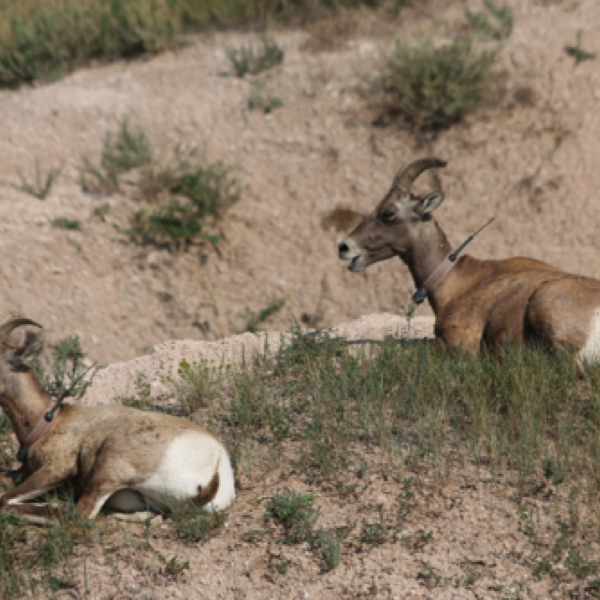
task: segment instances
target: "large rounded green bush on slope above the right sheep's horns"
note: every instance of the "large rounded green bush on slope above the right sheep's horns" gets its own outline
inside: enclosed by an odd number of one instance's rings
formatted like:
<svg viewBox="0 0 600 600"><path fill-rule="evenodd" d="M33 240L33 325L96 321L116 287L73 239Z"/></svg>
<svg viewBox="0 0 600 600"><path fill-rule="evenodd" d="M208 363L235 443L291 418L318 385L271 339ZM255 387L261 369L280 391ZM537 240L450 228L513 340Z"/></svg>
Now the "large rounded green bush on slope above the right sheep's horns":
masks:
<svg viewBox="0 0 600 600"><path fill-rule="evenodd" d="M386 57L384 87L388 108L420 127L456 123L498 95L493 66L499 49L477 50L462 36L442 46L396 43Z"/></svg>

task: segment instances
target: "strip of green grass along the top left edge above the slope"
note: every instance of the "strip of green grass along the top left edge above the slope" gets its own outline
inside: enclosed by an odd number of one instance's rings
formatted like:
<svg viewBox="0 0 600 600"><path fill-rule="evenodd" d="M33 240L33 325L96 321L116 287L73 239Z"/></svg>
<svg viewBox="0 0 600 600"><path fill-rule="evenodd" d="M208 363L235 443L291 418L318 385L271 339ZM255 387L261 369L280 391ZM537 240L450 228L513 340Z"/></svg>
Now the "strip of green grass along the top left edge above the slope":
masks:
<svg viewBox="0 0 600 600"><path fill-rule="evenodd" d="M0 87L49 81L93 60L162 52L180 34L268 21L302 23L380 0L5 0L0 4Z"/></svg>

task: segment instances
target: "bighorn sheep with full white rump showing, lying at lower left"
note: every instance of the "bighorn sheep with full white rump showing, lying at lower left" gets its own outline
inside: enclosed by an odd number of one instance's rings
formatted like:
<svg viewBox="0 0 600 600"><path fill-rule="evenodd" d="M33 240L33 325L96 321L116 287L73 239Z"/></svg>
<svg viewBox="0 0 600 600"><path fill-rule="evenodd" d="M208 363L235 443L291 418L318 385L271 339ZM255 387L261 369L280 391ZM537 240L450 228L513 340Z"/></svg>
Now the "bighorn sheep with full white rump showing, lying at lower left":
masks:
<svg viewBox="0 0 600 600"><path fill-rule="evenodd" d="M27 501L67 481L90 519L102 506L131 512L190 502L218 511L233 503L225 448L190 421L121 405L64 404L48 422L53 403L31 367L42 343L32 331L21 345L8 341L21 325L40 327L16 313L0 318L0 406L21 450L28 448L25 480L0 496L1 510L47 523L48 505Z"/></svg>

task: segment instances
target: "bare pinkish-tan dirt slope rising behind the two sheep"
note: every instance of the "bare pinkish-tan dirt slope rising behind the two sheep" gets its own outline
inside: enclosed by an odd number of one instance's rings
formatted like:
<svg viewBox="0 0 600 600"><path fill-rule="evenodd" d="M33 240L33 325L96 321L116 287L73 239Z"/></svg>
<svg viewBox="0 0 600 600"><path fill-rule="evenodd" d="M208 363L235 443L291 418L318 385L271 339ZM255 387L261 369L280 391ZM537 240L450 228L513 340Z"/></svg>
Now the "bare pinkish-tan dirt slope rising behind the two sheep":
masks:
<svg viewBox="0 0 600 600"><path fill-rule="evenodd" d="M45 324L53 339L78 333L105 364L167 339L242 332L247 311L278 299L285 306L268 324L276 330L292 315L318 313L319 325L331 325L402 313L412 291L405 268L389 261L348 273L336 256L344 232L324 230L322 219L337 206L370 210L399 166L424 154L449 160L438 218L453 243L497 215L472 253L529 255L600 275L600 71L593 60L575 67L564 52L579 30L594 50L597 3L514 3L501 55L510 89L498 109L429 141L372 125L378 110L360 92L381 53L398 36L430 30L434 18L459 20L458 4L406 8L393 24L350 16L341 28L350 33L336 34L331 51L310 51L308 32L273 32L285 60L259 79L283 106L269 115L248 108L254 78L232 76L225 49L258 39L241 33L197 36L147 61L0 93L3 306ZM177 144L197 146L233 167L241 200L219 226L217 250L138 247L118 229L137 202L82 191L82 156L99 162L105 135L125 119L165 157ZM63 166L45 200L19 189L18 171L33 181L36 161L43 173ZM433 185L428 177L421 187ZM105 205L104 221L93 216ZM53 227L59 217L80 220L83 231Z"/></svg>

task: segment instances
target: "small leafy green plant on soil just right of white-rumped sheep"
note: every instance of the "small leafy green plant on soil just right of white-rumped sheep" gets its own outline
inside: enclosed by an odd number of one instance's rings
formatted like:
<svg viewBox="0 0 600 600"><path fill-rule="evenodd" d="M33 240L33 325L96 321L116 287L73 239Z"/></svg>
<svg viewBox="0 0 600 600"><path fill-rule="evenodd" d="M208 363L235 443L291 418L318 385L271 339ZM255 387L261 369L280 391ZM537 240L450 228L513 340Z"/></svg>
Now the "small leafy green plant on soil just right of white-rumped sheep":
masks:
<svg viewBox="0 0 600 600"><path fill-rule="evenodd" d="M313 539L313 526L319 518L319 510L313 506L312 494L299 494L285 488L283 493L269 500L264 521L273 520L283 526L284 544L300 544Z"/></svg>

